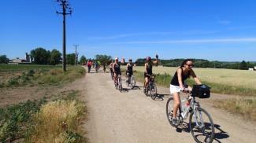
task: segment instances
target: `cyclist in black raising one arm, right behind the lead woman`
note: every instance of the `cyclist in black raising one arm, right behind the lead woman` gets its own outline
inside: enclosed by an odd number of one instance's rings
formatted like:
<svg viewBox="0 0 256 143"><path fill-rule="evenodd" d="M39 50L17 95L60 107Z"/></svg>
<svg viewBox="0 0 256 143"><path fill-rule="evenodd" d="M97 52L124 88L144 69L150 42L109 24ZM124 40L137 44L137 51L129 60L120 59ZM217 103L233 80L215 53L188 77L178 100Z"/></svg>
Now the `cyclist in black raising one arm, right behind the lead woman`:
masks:
<svg viewBox="0 0 256 143"><path fill-rule="evenodd" d="M146 57L145 72L144 72L144 93L146 93L146 87L149 83L150 76L152 73L153 64L158 64L158 58L155 61L151 61L151 57Z"/></svg>

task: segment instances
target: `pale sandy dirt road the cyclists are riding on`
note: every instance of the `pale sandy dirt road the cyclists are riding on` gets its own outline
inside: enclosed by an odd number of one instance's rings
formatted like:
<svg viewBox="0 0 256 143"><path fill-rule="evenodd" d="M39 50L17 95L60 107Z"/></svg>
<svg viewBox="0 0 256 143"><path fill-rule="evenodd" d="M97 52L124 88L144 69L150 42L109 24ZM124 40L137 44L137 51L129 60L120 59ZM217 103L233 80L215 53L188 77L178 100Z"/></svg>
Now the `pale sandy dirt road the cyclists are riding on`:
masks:
<svg viewBox="0 0 256 143"><path fill-rule="evenodd" d="M124 89L122 93L115 90L113 81L104 72L89 73L79 84L80 88L83 85L82 98L89 111L84 128L90 142L195 142L191 133L169 125L165 116L165 104L170 97L168 88L158 87L164 100L153 101L143 94L141 83L135 90ZM213 142L254 142L255 123L213 108L214 97L221 95L213 94L210 99L200 101L215 123Z"/></svg>

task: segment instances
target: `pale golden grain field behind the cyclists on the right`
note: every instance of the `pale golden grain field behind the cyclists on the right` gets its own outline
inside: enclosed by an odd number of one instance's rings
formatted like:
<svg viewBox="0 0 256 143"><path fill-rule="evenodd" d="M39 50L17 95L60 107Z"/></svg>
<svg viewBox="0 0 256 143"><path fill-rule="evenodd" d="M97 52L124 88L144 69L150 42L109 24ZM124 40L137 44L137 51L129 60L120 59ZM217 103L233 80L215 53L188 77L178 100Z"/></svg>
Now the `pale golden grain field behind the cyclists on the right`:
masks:
<svg viewBox="0 0 256 143"><path fill-rule="evenodd" d="M256 90L256 72L247 70L233 70L233 69L220 69L220 68L193 68L196 75L202 81L209 83L226 84L229 86L239 86L242 88L251 88ZM144 72L143 66L134 68L139 72ZM154 67L154 73L174 75L176 72L175 67ZM171 79L169 79L171 80Z"/></svg>

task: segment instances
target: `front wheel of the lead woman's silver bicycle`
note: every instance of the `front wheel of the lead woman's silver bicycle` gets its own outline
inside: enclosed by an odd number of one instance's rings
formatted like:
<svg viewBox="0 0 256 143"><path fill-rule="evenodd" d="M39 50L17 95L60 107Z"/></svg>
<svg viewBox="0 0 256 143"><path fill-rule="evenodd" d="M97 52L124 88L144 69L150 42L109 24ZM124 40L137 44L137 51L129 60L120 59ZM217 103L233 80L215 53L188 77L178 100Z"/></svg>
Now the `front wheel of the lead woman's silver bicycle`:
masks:
<svg viewBox="0 0 256 143"><path fill-rule="evenodd" d="M209 113L203 108L191 112L189 127L196 142L212 142L214 139L214 124Z"/></svg>

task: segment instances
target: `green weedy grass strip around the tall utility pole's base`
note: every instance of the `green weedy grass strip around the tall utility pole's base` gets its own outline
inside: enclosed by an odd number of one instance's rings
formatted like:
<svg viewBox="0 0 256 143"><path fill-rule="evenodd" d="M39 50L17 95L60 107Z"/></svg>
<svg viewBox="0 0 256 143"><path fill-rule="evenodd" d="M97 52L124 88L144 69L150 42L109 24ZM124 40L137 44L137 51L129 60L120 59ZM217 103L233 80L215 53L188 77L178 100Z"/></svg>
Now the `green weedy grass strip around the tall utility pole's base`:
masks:
<svg viewBox="0 0 256 143"><path fill-rule="evenodd" d="M24 69L25 67L27 67L28 69ZM0 72L9 69L7 68L3 70L2 68L3 67L1 66ZM64 83L70 83L75 79L80 79L84 75L85 70L82 67L69 66L67 68L67 72L63 72L61 67L58 66L23 65L21 67L16 67L12 70L9 70L9 72L9 77L7 77L5 81L2 81L2 83L0 83L0 88L26 85L62 85ZM4 75L5 74L2 74L2 76Z"/></svg>

